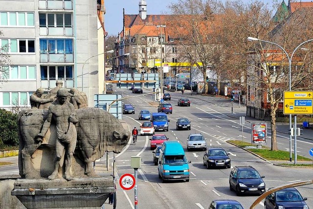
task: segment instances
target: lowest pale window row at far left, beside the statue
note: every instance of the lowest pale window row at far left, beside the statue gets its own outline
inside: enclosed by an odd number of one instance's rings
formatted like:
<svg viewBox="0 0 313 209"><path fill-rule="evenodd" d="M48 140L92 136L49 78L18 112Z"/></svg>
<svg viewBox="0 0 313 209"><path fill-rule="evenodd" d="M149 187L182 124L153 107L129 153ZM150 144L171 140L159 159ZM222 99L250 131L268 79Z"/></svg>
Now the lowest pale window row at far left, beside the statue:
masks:
<svg viewBox="0 0 313 209"><path fill-rule="evenodd" d="M2 106L22 106L29 105L30 93L28 92L3 92Z"/></svg>

